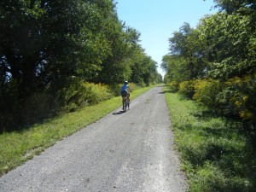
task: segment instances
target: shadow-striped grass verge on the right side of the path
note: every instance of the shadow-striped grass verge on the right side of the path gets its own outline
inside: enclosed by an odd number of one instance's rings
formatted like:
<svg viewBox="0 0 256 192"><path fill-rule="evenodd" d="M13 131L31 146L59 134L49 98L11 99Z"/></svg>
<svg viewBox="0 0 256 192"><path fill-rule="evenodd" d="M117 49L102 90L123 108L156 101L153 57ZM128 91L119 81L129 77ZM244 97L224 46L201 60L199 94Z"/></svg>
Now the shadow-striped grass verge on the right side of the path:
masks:
<svg viewBox="0 0 256 192"><path fill-rule="evenodd" d="M165 88L172 131L190 191L255 191L256 153L245 125Z"/></svg>

